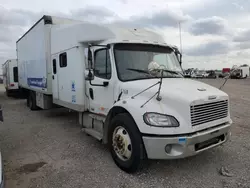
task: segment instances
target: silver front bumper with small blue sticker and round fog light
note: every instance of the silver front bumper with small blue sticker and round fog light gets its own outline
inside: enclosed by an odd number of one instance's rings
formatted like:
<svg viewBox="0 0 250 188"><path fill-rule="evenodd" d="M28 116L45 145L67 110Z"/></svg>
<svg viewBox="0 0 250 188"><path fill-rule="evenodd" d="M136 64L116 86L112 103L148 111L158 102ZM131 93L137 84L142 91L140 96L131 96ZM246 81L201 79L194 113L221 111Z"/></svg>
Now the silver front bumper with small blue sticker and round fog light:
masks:
<svg viewBox="0 0 250 188"><path fill-rule="evenodd" d="M231 123L227 123L188 135L142 138L149 159L178 159L225 143L231 135L230 127Z"/></svg>

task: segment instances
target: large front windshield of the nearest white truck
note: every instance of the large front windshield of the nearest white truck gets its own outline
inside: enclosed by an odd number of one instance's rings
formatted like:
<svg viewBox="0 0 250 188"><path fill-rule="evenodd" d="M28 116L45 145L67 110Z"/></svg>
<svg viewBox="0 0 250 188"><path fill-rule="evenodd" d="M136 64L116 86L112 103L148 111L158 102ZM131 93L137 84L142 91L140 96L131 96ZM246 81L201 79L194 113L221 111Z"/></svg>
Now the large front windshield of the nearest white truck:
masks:
<svg viewBox="0 0 250 188"><path fill-rule="evenodd" d="M152 61L157 62L164 69L183 74L176 55L169 47L148 44L115 44L114 54L118 77L122 81L153 78L153 76L143 72L129 70L148 71L148 65ZM164 72L163 77L182 78L181 74L169 72Z"/></svg>

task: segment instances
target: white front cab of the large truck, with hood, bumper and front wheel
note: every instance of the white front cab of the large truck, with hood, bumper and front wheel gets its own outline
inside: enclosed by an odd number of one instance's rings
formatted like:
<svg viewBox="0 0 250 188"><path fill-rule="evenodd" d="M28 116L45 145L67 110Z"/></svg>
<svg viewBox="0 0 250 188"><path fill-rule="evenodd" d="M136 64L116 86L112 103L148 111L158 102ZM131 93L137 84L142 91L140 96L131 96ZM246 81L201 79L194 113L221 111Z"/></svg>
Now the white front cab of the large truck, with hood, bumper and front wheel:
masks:
<svg viewBox="0 0 250 188"><path fill-rule="evenodd" d="M83 113L86 132L108 143L127 172L136 171L142 158L184 158L226 142L228 95L185 79L173 47L157 34L129 32L131 38L89 46L85 84L92 115ZM160 76L150 74L155 64ZM103 129L95 130L100 117Z"/></svg>

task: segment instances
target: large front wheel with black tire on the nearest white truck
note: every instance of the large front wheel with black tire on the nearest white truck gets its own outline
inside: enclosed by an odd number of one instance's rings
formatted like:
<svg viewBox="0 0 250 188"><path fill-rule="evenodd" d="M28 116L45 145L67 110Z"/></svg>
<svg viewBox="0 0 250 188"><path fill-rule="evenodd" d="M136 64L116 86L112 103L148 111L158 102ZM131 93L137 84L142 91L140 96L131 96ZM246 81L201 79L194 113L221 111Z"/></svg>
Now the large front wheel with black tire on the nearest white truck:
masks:
<svg viewBox="0 0 250 188"><path fill-rule="evenodd" d="M118 114L112 119L108 139L115 164L127 173L136 172L142 165L145 150L137 125L129 114Z"/></svg>

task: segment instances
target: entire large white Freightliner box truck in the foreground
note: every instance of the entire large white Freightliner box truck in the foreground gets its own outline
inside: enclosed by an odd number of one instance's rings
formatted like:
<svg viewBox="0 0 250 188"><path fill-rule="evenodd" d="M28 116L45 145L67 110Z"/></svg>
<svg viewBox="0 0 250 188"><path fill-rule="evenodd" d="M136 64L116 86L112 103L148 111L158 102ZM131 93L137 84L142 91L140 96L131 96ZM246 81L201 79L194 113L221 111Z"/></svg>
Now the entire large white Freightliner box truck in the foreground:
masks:
<svg viewBox="0 0 250 188"><path fill-rule="evenodd" d="M17 41L20 87L32 110L78 111L83 130L126 172L143 159L184 158L228 140L228 95L185 79L181 54L162 36L54 20L44 16Z"/></svg>

